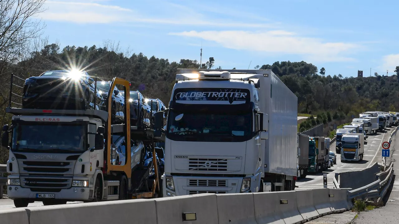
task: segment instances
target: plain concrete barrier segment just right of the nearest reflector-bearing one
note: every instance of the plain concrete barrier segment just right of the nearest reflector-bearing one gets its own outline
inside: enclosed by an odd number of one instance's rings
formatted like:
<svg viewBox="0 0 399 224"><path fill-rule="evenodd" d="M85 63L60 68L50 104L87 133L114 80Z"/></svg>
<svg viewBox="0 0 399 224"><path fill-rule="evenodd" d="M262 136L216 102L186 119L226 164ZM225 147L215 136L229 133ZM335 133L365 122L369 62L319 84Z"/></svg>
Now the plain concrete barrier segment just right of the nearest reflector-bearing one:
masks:
<svg viewBox="0 0 399 224"><path fill-rule="evenodd" d="M219 224L257 224L252 193L216 195Z"/></svg>

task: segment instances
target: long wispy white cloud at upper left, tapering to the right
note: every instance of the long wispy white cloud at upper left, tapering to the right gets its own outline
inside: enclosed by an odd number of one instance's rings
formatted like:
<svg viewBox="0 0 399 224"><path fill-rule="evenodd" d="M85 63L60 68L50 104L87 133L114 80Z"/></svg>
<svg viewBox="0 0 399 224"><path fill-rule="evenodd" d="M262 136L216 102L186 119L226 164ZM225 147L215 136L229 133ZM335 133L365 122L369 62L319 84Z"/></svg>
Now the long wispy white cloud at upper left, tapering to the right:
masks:
<svg viewBox="0 0 399 224"><path fill-rule="evenodd" d="M124 24L159 24L174 26L206 26L225 28L271 28L276 24L247 23L230 20L218 20L205 16L187 6L157 2L149 8L122 8L120 6L100 4L105 0L91 0L90 2L47 1L48 10L41 14L44 20L73 23L116 23ZM132 4L135 7L134 4ZM148 5L146 5L148 6ZM146 14L150 16L146 16ZM156 16L154 16L156 15Z"/></svg>

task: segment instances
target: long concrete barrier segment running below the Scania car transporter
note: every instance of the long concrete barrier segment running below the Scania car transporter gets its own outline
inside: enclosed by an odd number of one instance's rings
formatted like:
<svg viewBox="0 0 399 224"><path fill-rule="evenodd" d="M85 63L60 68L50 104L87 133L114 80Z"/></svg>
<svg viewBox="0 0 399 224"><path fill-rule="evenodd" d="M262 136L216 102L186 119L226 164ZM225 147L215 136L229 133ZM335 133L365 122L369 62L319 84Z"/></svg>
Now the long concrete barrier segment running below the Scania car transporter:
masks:
<svg viewBox="0 0 399 224"><path fill-rule="evenodd" d="M156 205L153 199L38 206L29 210L30 224L154 224L157 222Z"/></svg>

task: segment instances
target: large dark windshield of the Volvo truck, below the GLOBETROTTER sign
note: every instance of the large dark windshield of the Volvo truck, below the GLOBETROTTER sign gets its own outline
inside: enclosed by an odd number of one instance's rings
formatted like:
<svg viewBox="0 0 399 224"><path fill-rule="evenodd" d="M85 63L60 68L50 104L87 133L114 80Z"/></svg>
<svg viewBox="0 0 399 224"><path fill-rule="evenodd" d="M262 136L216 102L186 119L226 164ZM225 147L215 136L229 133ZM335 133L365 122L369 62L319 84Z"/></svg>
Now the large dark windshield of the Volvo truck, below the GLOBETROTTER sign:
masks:
<svg viewBox="0 0 399 224"><path fill-rule="evenodd" d="M170 110L167 136L176 141L247 141L253 136L251 111Z"/></svg>

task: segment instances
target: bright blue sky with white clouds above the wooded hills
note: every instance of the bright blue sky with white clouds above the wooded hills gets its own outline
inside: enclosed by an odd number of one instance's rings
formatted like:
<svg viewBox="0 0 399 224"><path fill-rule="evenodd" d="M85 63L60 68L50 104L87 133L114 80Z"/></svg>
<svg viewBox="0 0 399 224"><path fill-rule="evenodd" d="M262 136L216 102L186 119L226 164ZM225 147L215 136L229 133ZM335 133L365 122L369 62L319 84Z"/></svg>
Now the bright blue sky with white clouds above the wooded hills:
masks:
<svg viewBox="0 0 399 224"><path fill-rule="evenodd" d="M399 65L397 8L386 0L47 0L38 17L49 42L102 47L170 61L215 58L247 69L306 61L326 75L394 74Z"/></svg>

